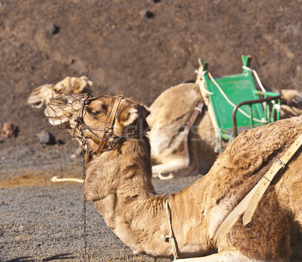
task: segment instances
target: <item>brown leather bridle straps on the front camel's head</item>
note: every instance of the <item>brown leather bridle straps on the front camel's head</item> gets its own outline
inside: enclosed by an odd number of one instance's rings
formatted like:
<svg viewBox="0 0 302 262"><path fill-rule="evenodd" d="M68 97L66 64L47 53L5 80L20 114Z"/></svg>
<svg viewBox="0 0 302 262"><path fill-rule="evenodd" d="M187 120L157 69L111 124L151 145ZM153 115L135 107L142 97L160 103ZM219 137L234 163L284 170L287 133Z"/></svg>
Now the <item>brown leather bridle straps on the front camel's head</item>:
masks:
<svg viewBox="0 0 302 262"><path fill-rule="evenodd" d="M138 130L137 130L137 126L138 126L138 123L139 123L139 116L140 116L140 106L138 106L138 117L137 117L137 121L136 121L136 125L135 125L135 129L133 129L131 132L129 132L128 134L125 134L123 136L117 136L114 134L113 132L113 126L114 126L114 119L115 119L115 116L116 116L116 112L118 110L118 107L120 105L120 102L122 99L125 99L133 104L137 104L139 105L138 103L134 102L134 101L131 101L127 98L124 98L123 96L107 96L107 95L99 95L97 97L92 97L91 95L89 95L88 93L84 94L85 96L81 99L81 108L80 108L80 111L79 111L79 115L77 116L77 118L75 118L75 121L77 122L77 125L75 125L74 127L74 130L73 130L73 136L75 134L75 129L79 128L81 129L81 134L83 134L83 130L89 130L90 133L92 133L93 135L95 135L97 138L99 138L101 140L100 144L99 144L99 147L96 151L97 155L99 156L100 154L102 154L103 152L106 152L110 149L112 149L117 141L121 138L126 138L126 137L130 137L132 136L133 134L137 134L139 136L145 136L144 133L139 133ZM97 129L97 128L93 128L93 127L89 127L85 122L84 122L84 109L87 105L89 105L92 101L94 100L97 100L101 97L111 97L111 98L115 98L115 101L114 101L114 105L112 107L112 110L111 110L111 113L110 113L110 116L107 120L107 125L104 127L104 129ZM81 127L79 127L79 125L82 125ZM95 132L93 132L93 130L97 130L97 131L100 131L100 132L103 132L103 136L100 137L98 136L97 134L95 134ZM83 136L83 135L82 135ZM132 137L131 137L132 138ZM112 140L112 143L110 144L109 146L109 149L107 150L103 150L106 142L108 141L108 139L113 139ZM115 143L114 143L115 142Z"/></svg>

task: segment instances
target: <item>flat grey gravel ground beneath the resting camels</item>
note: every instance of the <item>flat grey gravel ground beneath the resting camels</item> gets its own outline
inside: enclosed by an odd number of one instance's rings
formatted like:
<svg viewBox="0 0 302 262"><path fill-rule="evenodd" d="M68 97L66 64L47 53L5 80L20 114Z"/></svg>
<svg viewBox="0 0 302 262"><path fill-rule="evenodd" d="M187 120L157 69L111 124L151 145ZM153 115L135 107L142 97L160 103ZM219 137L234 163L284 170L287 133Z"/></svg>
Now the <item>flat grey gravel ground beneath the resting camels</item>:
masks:
<svg viewBox="0 0 302 262"><path fill-rule="evenodd" d="M197 177L155 180L159 193L176 192ZM0 189L0 260L79 261L83 253L82 184ZM90 261L170 261L134 255L87 203Z"/></svg>

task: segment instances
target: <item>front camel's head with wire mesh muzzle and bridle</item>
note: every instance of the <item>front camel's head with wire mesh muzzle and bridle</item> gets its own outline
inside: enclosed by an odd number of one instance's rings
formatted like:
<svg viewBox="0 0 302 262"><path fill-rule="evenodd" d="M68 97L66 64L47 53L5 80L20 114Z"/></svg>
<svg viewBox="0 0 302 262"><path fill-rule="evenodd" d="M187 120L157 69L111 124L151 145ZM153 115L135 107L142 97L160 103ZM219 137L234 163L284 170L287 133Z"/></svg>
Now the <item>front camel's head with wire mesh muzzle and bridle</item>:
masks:
<svg viewBox="0 0 302 262"><path fill-rule="evenodd" d="M134 100L121 96L93 98L89 94L61 94L49 101L45 114L49 122L62 132L79 140L83 134L95 145L101 143L105 133L110 140L133 138L148 131L146 116L149 111ZM112 123L108 122L110 118Z"/></svg>

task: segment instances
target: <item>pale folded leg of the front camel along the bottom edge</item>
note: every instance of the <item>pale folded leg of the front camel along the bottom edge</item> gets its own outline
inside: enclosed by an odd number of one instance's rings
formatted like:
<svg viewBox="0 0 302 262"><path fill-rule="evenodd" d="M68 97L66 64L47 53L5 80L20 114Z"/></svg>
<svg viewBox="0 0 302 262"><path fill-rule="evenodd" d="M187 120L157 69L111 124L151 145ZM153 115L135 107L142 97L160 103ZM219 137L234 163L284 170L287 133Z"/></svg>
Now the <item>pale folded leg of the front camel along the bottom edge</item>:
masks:
<svg viewBox="0 0 302 262"><path fill-rule="evenodd" d="M177 259L176 262L260 262L263 260L257 260L249 258L237 251L225 251L203 257L192 257Z"/></svg>

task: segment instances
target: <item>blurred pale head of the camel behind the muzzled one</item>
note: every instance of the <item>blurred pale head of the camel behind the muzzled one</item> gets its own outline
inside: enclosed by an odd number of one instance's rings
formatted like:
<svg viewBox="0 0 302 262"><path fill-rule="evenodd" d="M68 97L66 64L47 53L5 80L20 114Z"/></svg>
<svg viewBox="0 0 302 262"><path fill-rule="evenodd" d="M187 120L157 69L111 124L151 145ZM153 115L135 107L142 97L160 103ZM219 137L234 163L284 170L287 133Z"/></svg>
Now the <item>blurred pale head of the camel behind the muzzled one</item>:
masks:
<svg viewBox="0 0 302 262"><path fill-rule="evenodd" d="M87 77L66 77L57 84L45 84L35 88L27 99L27 103L35 108L46 106L50 99L63 93L90 92L92 81Z"/></svg>

